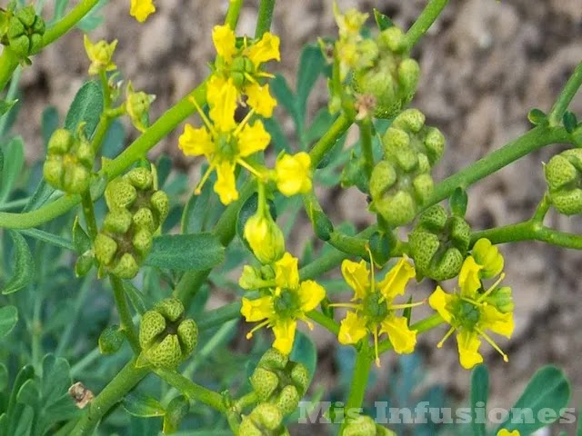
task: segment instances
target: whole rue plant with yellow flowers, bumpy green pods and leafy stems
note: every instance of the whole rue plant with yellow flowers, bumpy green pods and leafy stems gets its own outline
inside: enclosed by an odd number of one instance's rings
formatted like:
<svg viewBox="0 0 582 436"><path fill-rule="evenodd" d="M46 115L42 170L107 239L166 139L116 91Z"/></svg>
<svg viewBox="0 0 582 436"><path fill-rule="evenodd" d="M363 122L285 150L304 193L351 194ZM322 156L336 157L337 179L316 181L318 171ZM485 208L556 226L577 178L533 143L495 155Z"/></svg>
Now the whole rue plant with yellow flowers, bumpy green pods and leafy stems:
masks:
<svg viewBox="0 0 582 436"><path fill-rule="evenodd" d="M123 74L115 35L90 35L107 2L53 3L0 9L0 435L321 431L306 414L343 436L394 435L400 428L366 401L369 381L384 355L411 362L421 342L473 370L472 419L457 434L527 435L568 419L570 386L553 366L517 401L551 418L478 417L487 407L482 363L500 354L512 364L507 339L521 303L504 272L518 261L497 245L582 249L582 235L544 223L551 208L582 213L582 124L568 111L582 64L547 113L527 114L527 133L437 180L447 133L414 107L423 65L413 49L447 0L427 1L409 29L377 10L334 5L337 35L306 45L295 91L276 73L285 45L270 30L276 1L260 0L255 35L242 35L244 2L230 0L207 35L216 53L206 78L155 120L155 95ZM143 25L168 7L127 3ZM45 109L45 154L25 165L12 130L20 74L69 31L84 41L88 79L64 119ZM312 114L307 100L320 79L329 99ZM281 124L289 118L295 134ZM175 130L175 152L201 164L196 180L166 155L149 157ZM532 217L473 227L468 188L553 144L567 150L532 169L547 180ZM350 188L367 199L361 213L373 225L334 223L318 200ZM418 290L422 281L433 292ZM335 362L346 376L322 373L332 366L317 362L316 329L348 352ZM440 342L426 335L433 330ZM332 375L338 389L326 391L320 380ZM321 416L302 402L332 398Z"/></svg>

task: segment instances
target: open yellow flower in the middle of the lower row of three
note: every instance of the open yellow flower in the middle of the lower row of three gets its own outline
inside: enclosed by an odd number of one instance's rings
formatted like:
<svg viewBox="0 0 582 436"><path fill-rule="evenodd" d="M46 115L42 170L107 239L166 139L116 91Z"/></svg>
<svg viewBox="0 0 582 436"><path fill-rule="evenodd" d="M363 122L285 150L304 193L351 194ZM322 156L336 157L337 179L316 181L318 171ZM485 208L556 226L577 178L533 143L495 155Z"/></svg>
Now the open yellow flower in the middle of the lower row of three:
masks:
<svg viewBox="0 0 582 436"><path fill-rule="evenodd" d="M413 352L416 345L416 331L408 328L406 318L396 316L396 309L412 307L413 304L393 304L397 295L404 294L406 283L415 276L414 267L403 257L386 277L376 282L374 270L370 273L365 261L355 263L345 260L342 275L354 290L354 298L349 303L332 304L335 307L354 309L348 311L341 322L337 339L340 343L356 343L372 333L376 349L376 364L379 365L377 352L378 336L386 333L394 350L398 353ZM356 303L354 303L356 302Z"/></svg>

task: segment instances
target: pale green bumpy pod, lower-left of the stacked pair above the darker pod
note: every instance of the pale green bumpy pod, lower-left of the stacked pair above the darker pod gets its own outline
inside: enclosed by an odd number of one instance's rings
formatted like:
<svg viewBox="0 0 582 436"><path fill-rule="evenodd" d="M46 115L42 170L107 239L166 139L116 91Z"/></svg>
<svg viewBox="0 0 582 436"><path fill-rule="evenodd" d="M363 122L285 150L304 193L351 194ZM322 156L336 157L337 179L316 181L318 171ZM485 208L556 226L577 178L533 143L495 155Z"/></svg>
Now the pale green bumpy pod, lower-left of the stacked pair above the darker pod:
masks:
<svg viewBox="0 0 582 436"><path fill-rule="evenodd" d="M433 193L429 168L427 161L411 170L388 160L377 163L370 177L370 210L379 213L391 227L410 223Z"/></svg>

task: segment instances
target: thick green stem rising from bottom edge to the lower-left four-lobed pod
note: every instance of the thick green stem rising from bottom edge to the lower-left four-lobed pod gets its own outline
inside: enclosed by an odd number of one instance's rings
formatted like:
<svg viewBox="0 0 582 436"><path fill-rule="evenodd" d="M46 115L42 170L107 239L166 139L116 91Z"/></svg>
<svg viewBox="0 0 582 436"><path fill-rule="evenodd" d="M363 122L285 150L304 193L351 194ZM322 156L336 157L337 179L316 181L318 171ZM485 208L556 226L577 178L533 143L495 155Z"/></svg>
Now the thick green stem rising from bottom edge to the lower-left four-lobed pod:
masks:
<svg viewBox="0 0 582 436"><path fill-rule="evenodd" d="M89 402L85 415L77 421L71 436L91 435L95 427L101 421L107 411L125 397L127 392L134 389L135 385L146 377L149 369L146 367L135 368L135 359L128 362L114 379L105 386L105 389Z"/></svg>

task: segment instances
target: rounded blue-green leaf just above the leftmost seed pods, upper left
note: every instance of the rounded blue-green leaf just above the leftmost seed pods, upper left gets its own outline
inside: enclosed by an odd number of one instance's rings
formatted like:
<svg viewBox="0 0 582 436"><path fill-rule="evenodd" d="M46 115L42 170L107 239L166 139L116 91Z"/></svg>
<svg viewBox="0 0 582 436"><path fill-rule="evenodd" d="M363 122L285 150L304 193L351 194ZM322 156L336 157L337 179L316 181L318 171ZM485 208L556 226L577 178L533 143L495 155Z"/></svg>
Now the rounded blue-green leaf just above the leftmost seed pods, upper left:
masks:
<svg viewBox="0 0 582 436"><path fill-rule="evenodd" d="M90 138L103 112L103 90L96 82L87 82L76 93L65 118L65 129L75 132L85 122L85 134Z"/></svg>

